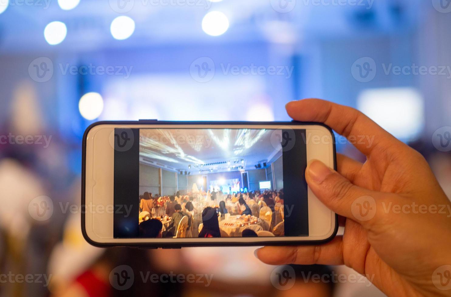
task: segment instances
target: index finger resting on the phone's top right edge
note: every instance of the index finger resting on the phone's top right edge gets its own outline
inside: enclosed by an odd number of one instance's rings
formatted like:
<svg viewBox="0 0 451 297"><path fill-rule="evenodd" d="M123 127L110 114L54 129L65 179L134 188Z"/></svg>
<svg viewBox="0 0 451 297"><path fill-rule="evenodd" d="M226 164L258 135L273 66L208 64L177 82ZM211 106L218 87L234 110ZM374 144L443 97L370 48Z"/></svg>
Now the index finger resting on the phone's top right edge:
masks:
<svg viewBox="0 0 451 297"><path fill-rule="evenodd" d="M394 144L402 144L357 109L321 99L292 101L285 106L288 115L296 121L316 121L326 124L345 136L365 156L387 151Z"/></svg>

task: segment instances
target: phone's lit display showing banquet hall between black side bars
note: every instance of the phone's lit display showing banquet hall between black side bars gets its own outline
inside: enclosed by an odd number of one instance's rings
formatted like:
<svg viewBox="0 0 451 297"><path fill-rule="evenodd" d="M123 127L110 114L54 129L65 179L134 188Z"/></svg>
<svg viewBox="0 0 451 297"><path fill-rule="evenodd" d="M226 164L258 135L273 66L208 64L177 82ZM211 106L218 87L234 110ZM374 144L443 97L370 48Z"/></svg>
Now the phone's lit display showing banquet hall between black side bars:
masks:
<svg viewBox="0 0 451 297"><path fill-rule="evenodd" d="M308 236L305 135L116 128L114 237Z"/></svg>

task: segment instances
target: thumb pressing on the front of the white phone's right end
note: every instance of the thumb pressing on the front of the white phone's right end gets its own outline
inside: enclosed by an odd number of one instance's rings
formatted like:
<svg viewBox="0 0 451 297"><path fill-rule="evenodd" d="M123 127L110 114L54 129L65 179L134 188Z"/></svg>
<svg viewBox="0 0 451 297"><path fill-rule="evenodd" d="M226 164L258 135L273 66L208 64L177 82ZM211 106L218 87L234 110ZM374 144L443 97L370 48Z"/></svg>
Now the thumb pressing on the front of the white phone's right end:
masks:
<svg viewBox="0 0 451 297"><path fill-rule="evenodd" d="M312 192L332 211L364 226L375 220L378 192L352 184L318 160L308 163L305 177Z"/></svg>

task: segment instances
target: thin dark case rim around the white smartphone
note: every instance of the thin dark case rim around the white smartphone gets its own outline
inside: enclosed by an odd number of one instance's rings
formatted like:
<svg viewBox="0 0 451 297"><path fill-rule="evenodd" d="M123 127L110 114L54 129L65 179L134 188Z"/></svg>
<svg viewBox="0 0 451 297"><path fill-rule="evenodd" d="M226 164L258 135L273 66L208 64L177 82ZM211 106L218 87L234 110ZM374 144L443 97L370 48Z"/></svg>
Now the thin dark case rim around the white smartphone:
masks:
<svg viewBox="0 0 451 297"><path fill-rule="evenodd" d="M83 142L82 142L82 197L81 204L86 204L86 145L87 145L87 135L89 131L99 125L118 125L118 126L129 126L129 125L231 125L231 126L240 126L240 125L274 125L274 126L291 126L291 125L303 125L303 126L322 126L329 130L332 138L332 149L333 149L333 166L336 170L336 144L335 144L335 135L333 134L331 128L323 123L319 122L301 122L301 121L274 121L274 122L250 122L250 121L157 121L157 120L139 120L139 121L97 121L92 123L87 127L83 134ZM99 243L93 241L86 232L86 214L81 214L81 228L82 234L85 240L93 246L96 247L119 247L119 246L128 246L128 247L139 247L139 248L180 248L180 247L226 247L226 246L262 246L262 245L272 245L272 246L280 246L280 245L313 245L313 244L322 244L327 243L333 239L338 231L338 215L335 214L335 226L334 230L328 238L322 240L302 240L302 237L299 237L299 241L258 241L258 242L174 242L174 243ZM281 237L283 238L283 237Z"/></svg>

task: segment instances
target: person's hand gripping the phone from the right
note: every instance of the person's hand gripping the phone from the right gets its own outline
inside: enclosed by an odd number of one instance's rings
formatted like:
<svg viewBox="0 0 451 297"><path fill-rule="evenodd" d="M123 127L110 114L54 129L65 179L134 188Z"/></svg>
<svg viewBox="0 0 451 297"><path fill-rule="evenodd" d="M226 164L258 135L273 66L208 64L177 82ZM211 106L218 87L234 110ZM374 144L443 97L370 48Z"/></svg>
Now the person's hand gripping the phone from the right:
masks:
<svg viewBox="0 0 451 297"><path fill-rule="evenodd" d="M367 160L337 154L338 172L317 160L306 169L313 193L342 216L343 236L317 246L262 247L256 256L272 265L345 264L388 296L451 295L451 204L426 160L354 108L304 99L286 110L349 140L368 135L354 144Z"/></svg>

